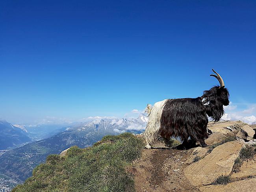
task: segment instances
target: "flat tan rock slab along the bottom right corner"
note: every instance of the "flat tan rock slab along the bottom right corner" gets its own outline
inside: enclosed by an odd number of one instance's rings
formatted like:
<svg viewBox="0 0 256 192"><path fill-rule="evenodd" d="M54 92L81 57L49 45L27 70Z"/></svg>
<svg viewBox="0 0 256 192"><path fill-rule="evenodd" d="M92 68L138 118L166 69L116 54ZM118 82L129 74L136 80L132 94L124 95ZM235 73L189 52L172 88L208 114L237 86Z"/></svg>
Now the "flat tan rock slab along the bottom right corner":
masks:
<svg viewBox="0 0 256 192"><path fill-rule="evenodd" d="M201 192L252 192L256 189L256 178L235 181L227 185L201 186L199 189Z"/></svg>

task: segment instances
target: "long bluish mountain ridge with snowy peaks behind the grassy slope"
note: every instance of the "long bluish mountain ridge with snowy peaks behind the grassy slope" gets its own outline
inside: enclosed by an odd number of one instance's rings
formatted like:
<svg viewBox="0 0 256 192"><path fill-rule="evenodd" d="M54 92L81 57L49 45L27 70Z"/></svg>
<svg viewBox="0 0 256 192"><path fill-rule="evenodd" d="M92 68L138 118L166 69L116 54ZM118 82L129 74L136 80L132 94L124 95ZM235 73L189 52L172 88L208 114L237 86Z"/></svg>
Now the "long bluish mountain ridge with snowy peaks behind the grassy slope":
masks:
<svg viewBox="0 0 256 192"><path fill-rule="evenodd" d="M52 137L26 144L1 155L0 172L18 182L23 182L32 175L33 168L44 162L50 154L59 154L74 145L80 148L91 146L105 135L119 135L123 132L141 133L146 123L147 116L140 114L138 118L132 119L98 117L90 122L65 127L65 131Z"/></svg>

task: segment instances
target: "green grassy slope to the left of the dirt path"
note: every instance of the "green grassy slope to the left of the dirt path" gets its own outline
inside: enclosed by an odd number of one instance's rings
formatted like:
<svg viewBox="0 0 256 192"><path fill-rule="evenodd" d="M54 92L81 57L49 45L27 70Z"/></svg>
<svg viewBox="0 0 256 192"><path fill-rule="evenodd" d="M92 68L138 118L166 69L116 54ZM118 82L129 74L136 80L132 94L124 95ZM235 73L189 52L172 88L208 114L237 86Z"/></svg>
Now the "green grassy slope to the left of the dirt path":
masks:
<svg viewBox="0 0 256 192"><path fill-rule="evenodd" d="M13 192L133 192L133 177L125 167L143 147L131 133L105 136L85 149L73 146L65 157L49 155Z"/></svg>

